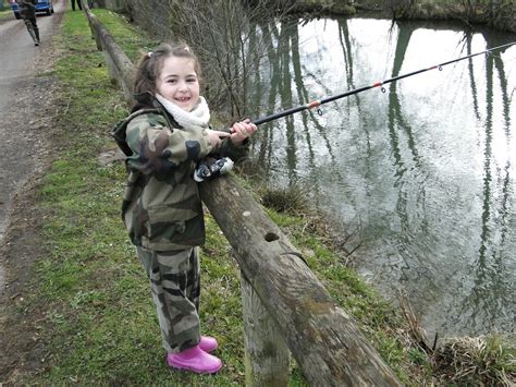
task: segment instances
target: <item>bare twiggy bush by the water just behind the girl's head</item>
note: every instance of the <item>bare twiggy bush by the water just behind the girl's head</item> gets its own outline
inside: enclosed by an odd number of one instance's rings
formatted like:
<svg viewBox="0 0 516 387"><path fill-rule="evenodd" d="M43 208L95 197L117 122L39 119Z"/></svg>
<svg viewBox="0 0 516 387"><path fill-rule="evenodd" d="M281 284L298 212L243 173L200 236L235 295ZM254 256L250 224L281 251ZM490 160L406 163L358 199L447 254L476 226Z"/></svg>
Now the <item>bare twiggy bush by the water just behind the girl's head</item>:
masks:
<svg viewBox="0 0 516 387"><path fill-rule="evenodd" d="M267 52L261 23L281 19L295 1L170 0L173 38L186 40L198 55L210 105L231 119L248 110L249 73ZM251 70L253 69L253 70Z"/></svg>

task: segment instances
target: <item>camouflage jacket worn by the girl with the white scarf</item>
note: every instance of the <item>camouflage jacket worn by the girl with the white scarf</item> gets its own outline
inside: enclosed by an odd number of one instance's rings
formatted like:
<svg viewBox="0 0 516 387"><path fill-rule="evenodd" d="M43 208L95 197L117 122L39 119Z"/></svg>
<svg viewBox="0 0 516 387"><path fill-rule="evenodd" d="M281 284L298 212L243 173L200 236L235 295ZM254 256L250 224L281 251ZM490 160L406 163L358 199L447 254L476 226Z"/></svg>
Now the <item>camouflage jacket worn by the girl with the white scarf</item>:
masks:
<svg viewBox="0 0 516 387"><path fill-rule="evenodd" d="M181 128L162 108L135 111L113 130L127 155L122 217L131 241L155 251L205 242L195 162L213 150L206 128ZM125 147L124 147L125 143Z"/></svg>

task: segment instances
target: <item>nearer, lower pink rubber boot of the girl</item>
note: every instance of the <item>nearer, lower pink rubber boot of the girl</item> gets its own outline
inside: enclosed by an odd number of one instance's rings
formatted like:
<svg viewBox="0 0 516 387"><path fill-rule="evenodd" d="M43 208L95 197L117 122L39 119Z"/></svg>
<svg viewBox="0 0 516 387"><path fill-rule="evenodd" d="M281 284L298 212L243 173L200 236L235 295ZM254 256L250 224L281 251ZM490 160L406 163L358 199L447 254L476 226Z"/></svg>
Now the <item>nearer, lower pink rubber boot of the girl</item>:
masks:
<svg viewBox="0 0 516 387"><path fill-rule="evenodd" d="M222 361L195 346L179 353L169 353L167 364L179 370L188 370L196 374L214 374L222 368Z"/></svg>

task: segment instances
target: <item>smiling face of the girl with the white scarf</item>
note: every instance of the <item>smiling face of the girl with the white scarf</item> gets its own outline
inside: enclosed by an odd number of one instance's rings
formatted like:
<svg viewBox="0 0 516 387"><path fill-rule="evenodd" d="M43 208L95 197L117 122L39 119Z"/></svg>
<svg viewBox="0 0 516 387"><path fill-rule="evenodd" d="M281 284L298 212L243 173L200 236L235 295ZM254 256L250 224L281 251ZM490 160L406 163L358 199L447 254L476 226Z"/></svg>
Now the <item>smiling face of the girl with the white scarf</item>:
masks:
<svg viewBox="0 0 516 387"><path fill-rule="evenodd" d="M157 92L185 111L192 111L199 100L199 80L194 60L169 57L157 82Z"/></svg>

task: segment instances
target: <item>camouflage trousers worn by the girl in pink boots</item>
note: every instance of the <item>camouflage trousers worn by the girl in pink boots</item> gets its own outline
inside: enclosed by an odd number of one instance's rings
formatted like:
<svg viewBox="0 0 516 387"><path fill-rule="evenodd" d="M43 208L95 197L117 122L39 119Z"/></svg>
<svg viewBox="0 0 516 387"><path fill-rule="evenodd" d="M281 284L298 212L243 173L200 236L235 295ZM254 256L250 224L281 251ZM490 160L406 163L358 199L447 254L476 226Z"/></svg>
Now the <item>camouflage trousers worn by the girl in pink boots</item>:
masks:
<svg viewBox="0 0 516 387"><path fill-rule="evenodd" d="M150 281L163 347L181 352L200 340L200 266L197 247L156 252L136 247Z"/></svg>

